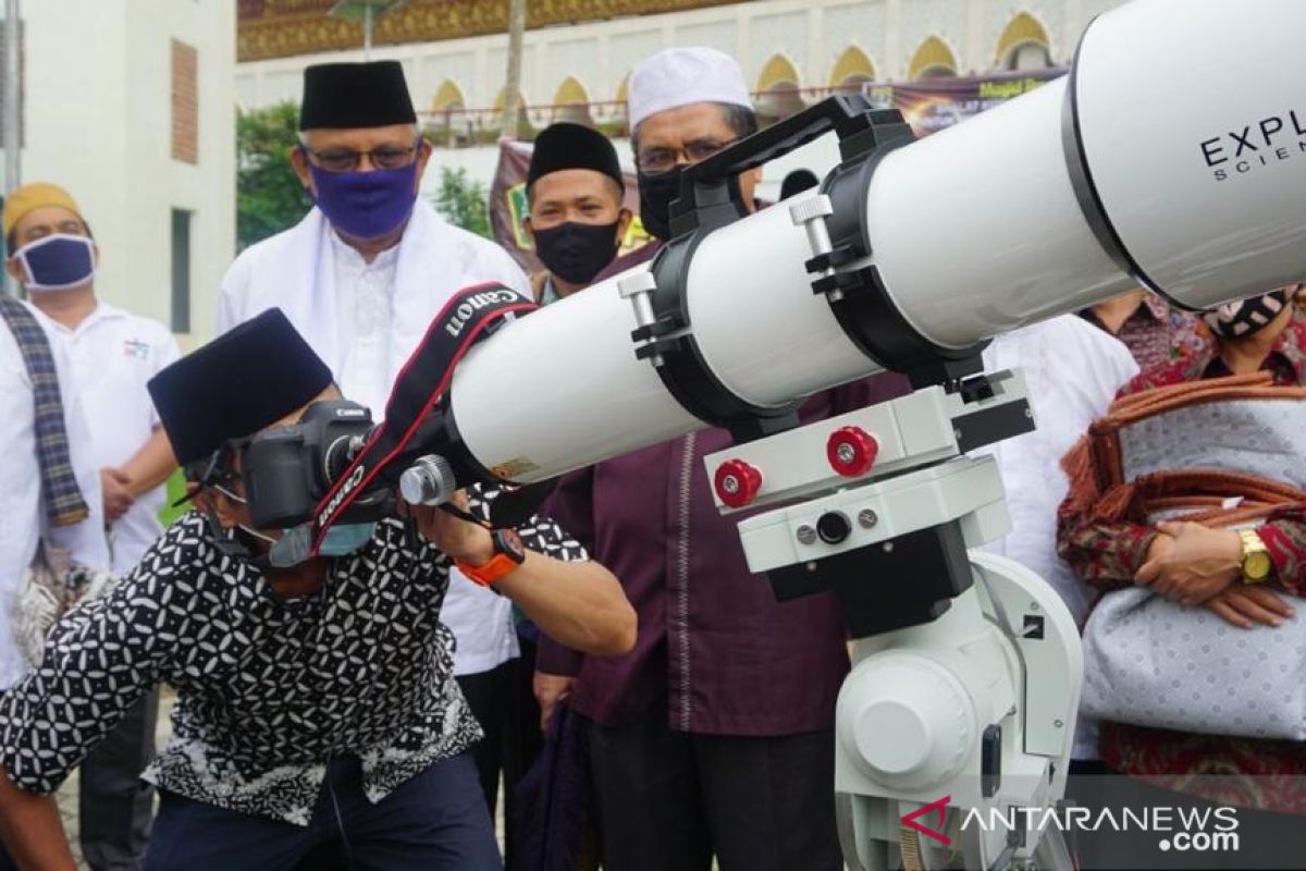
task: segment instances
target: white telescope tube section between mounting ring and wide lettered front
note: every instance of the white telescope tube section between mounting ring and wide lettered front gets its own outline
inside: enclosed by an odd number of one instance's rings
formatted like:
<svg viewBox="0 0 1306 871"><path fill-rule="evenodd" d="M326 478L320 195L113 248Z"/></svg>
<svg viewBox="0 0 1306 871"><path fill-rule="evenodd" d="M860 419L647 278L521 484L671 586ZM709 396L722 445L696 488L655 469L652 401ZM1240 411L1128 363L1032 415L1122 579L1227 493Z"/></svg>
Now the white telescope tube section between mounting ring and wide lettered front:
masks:
<svg viewBox="0 0 1306 871"><path fill-rule="evenodd" d="M899 311L965 347L1138 286L1102 249L1066 166L1066 78L893 151L866 201Z"/></svg>

